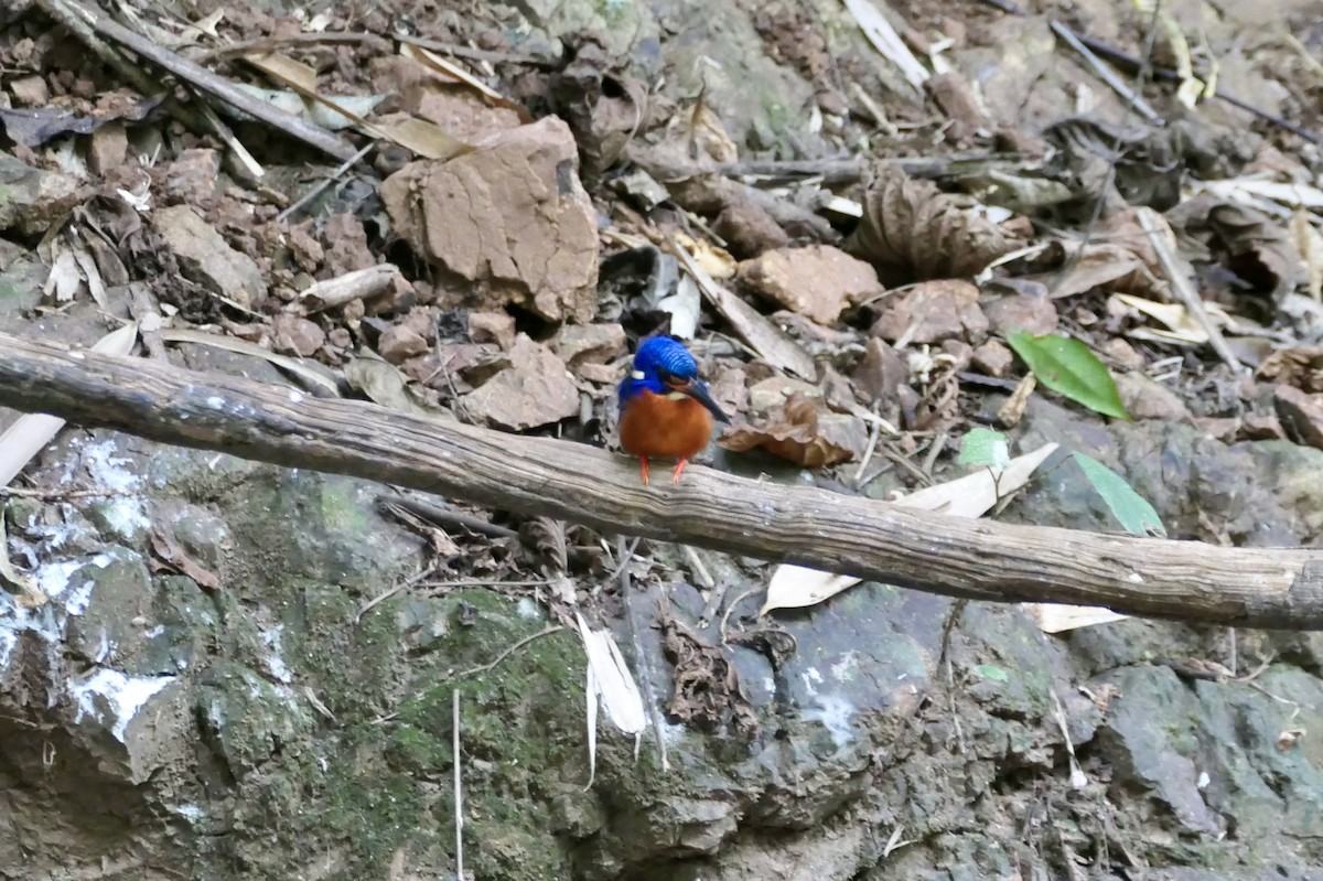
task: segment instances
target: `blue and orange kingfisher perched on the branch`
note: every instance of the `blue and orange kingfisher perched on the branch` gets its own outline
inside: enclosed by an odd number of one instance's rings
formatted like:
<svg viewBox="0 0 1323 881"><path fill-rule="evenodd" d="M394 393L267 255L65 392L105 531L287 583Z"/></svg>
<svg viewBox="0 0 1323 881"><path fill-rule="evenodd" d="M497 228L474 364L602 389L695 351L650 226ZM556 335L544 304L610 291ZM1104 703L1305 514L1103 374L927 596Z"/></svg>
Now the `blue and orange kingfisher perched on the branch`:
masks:
<svg viewBox="0 0 1323 881"><path fill-rule="evenodd" d="M689 458L708 446L713 417L730 422L684 344L669 336L644 340L620 381L620 446L639 458L643 484L650 458L679 459L671 483L680 483Z"/></svg>

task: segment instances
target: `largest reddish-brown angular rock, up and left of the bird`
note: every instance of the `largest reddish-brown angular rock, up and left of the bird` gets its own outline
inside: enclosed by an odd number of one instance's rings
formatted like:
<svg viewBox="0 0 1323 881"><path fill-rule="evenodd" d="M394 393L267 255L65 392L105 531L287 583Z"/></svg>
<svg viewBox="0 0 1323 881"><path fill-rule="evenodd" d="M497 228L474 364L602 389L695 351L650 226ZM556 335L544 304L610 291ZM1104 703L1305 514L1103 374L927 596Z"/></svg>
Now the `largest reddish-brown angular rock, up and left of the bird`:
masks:
<svg viewBox="0 0 1323 881"><path fill-rule="evenodd" d="M479 286L486 303L586 323L597 311L597 212L577 163L569 127L545 116L462 156L410 163L381 198L396 233Z"/></svg>

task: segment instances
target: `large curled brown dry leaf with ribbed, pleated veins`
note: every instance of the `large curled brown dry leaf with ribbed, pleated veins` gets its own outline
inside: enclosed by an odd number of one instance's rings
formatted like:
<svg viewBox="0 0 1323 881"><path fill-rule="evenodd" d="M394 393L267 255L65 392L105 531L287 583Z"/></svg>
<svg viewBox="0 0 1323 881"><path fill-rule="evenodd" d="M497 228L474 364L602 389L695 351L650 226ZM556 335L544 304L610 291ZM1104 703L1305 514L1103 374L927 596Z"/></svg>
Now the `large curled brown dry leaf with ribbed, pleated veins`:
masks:
<svg viewBox="0 0 1323 881"><path fill-rule="evenodd" d="M894 165L873 171L864 218L845 250L877 267L884 284L976 275L1024 241L926 180Z"/></svg>

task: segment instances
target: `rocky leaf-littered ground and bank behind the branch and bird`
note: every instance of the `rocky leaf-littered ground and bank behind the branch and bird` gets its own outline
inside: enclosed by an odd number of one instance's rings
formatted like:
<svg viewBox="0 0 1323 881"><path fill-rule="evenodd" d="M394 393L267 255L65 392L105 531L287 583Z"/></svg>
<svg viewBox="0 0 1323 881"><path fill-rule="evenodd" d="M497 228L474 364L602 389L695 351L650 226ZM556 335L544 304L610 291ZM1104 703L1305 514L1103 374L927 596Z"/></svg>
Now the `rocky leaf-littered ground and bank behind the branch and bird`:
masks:
<svg viewBox="0 0 1323 881"><path fill-rule="evenodd" d="M1316 546L1323 26L1265 5L11 4L0 331L609 447L664 331L721 468L894 499L995 427L1058 450L988 516L1121 532L1086 454ZM0 878L448 878L456 814L496 881L1323 878L1315 634L759 616L755 560L0 427Z"/></svg>

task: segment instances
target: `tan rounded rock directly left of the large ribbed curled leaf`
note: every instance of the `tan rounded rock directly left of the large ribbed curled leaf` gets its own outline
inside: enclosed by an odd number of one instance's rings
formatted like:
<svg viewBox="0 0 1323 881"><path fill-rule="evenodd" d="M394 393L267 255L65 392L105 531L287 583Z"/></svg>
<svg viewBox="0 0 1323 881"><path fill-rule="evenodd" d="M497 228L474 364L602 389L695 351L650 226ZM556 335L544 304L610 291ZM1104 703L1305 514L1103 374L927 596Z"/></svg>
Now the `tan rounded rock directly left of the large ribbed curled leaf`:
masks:
<svg viewBox="0 0 1323 881"><path fill-rule="evenodd" d="M741 263L740 279L819 324L835 324L847 306L882 292L872 266L830 245L767 251Z"/></svg>

